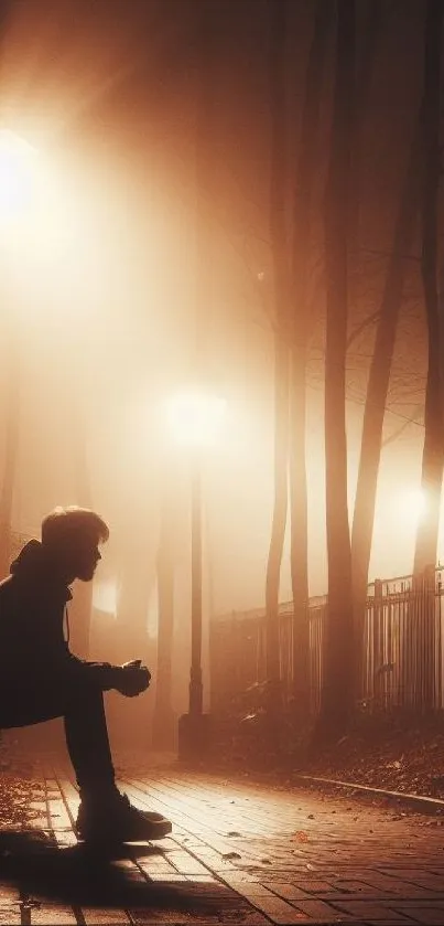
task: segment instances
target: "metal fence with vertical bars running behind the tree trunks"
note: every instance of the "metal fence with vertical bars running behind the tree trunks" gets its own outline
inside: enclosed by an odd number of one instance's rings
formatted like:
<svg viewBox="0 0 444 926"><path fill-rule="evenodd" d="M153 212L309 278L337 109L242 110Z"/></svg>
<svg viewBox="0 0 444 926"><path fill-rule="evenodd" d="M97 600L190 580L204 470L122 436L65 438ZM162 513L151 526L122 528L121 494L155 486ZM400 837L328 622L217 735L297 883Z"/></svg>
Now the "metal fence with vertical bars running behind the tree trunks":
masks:
<svg viewBox="0 0 444 926"><path fill-rule="evenodd" d="M444 607L442 571L421 582L401 576L368 586L362 632L360 701L373 707L444 709ZM311 598L310 685L312 712L321 703L327 596ZM293 692L291 603L280 606L280 669L284 698ZM266 681L263 610L224 615L210 627L212 710Z"/></svg>

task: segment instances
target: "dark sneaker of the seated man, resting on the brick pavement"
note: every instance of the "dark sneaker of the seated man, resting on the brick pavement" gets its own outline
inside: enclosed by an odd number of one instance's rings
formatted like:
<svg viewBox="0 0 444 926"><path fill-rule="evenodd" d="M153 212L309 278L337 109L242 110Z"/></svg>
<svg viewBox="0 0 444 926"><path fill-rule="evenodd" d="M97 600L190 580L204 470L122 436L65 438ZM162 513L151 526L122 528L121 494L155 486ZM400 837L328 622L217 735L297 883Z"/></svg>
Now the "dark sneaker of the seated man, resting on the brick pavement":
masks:
<svg viewBox="0 0 444 926"><path fill-rule="evenodd" d="M153 810L138 810L127 795L110 805L80 803L77 835L86 842L138 842L164 839L172 831L170 820Z"/></svg>

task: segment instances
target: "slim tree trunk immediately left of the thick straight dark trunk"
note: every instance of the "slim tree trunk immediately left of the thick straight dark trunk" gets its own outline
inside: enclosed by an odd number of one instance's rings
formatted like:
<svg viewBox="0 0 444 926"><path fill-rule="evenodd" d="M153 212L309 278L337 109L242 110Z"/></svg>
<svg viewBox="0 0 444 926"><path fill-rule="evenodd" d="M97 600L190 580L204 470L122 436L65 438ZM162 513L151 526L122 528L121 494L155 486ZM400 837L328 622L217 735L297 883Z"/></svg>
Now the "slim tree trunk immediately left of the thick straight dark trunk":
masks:
<svg viewBox="0 0 444 926"><path fill-rule="evenodd" d="M291 582L293 596L293 693L295 711L310 707L308 536L306 479L306 345L308 332L308 259L312 195L316 175L316 135L331 9L315 4L293 212L292 336L290 374Z"/></svg>

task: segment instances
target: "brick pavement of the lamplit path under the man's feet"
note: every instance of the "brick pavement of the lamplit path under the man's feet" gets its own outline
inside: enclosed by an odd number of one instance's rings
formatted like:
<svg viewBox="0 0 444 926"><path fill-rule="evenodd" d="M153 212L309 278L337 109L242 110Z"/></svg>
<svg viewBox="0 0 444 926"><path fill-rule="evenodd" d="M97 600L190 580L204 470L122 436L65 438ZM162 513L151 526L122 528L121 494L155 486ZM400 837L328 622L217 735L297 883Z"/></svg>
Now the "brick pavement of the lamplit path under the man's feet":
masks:
<svg viewBox="0 0 444 926"><path fill-rule="evenodd" d="M0 832L0 924L444 924L440 819L139 765L120 784L173 833L100 863L68 776L42 767L32 826Z"/></svg>

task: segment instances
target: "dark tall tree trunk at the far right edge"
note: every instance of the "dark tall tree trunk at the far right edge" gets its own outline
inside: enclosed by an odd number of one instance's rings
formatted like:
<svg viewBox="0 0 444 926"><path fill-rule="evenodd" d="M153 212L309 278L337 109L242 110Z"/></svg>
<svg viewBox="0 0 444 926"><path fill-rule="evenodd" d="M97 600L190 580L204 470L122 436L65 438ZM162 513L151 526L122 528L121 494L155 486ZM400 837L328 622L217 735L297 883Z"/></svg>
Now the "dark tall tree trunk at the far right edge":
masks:
<svg viewBox="0 0 444 926"><path fill-rule="evenodd" d="M427 0L424 36L424 88L422 138L424 146L421 198L422 258L425 317L429 340L425 390L424 445L421 488L425 511L420 519L413 564L416 594L409 614L411 646L420 658L413 661L413 705L421 710L436 706L433 672L435 661L434 568L437 554L441 492L444 468L444 430L441 405L440 308L437 296L437 199L440 189L440 82L441 0Z"/></svg>

